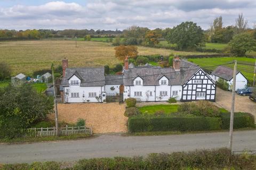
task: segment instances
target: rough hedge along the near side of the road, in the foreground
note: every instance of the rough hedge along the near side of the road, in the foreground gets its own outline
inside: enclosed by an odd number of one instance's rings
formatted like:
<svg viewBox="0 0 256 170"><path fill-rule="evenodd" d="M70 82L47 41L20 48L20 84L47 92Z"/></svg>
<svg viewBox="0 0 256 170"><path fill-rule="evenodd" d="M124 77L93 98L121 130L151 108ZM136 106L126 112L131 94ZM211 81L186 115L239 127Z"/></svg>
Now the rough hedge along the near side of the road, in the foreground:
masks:
<svg viewBox="0 0 256 170"><path fill-rule="evenodd" d="M149 154L147 157L115 157L81 159L75 163L32 163L32 164L6 164L3 170L123 170L123 169L255 169L256 156L231 155L227 148L212 150L195 150L190 152L173 152L172 154Z"/></svg>

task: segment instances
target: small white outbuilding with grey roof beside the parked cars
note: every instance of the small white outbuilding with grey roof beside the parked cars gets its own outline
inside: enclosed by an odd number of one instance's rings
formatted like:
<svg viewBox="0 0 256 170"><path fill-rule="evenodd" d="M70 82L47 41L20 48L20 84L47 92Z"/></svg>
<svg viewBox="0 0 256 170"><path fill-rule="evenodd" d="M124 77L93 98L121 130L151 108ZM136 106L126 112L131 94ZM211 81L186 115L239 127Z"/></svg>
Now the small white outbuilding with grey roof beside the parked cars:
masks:
<svg viewBox="0 0 256 170"><path fill-rule="evenodd" d="M212 73L211 78L214 81L221 79L224 79L229 84L228 89L232 89L233 84L233 69L225 66L218 66ZM236 71L236 90L237 89L243 89L245 86L247 86L247 79L246 77L239 71Z"/></svg>

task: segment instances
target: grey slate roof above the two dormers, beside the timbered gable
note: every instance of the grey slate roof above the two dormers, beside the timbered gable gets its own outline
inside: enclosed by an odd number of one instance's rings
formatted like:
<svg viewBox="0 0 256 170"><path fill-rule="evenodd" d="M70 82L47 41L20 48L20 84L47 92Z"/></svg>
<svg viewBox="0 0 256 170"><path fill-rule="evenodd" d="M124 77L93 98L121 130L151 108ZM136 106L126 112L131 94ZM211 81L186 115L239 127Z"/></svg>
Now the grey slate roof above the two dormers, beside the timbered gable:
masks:
<svg viewBox="0 0 256 170"><path fill-rule="evenodd" d="M199 68L199 66L185 60L180 61L180 71L174 71L173 67L137 66L124 70L124 85L133 86L133 80L141 77L144 86L155 86L159 85L158 80L163 76L169 79L169 85L181 85Z"/></svg>

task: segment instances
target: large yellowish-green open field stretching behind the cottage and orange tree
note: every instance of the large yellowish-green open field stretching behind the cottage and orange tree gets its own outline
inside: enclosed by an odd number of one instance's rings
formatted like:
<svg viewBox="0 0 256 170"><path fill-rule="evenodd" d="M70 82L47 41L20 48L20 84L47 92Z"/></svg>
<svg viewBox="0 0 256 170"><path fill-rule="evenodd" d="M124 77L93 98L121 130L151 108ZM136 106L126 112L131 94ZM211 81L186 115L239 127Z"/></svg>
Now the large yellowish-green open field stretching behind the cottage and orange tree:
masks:
<svg viewBox="0 0 256 170"><path fill-rule="evenodd" d="M10 64L13 75L31 75L36 70L50 69L51 63L61 65L65 57L69 60L69 67L114 66L121 63L115 57L114 48L110 43L94 41L77 41L77 48L75 41L71 40L0 41L0 62ZM139 55L209 54L142 46L138 47L138 51Z"/></svg>

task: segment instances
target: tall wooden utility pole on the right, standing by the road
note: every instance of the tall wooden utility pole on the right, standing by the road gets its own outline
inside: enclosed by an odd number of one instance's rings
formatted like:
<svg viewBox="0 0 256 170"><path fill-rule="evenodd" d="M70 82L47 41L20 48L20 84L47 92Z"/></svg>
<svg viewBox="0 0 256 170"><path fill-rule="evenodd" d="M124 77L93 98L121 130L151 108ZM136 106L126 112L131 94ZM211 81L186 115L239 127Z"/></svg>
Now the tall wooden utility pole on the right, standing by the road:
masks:
<svg viewBox="0 0 256 170"><path fill-rule="evenodd" d="M233 72L232 103L231 103L231 112L230 112L230 128L229 128L229 149L231 152L232 152L232 142L233 142L233 124L234 124L234 110L235 110L236 67L237 67L237 62L235 60L234 72Z"/></svg>

